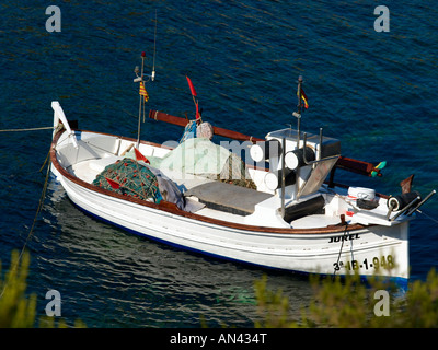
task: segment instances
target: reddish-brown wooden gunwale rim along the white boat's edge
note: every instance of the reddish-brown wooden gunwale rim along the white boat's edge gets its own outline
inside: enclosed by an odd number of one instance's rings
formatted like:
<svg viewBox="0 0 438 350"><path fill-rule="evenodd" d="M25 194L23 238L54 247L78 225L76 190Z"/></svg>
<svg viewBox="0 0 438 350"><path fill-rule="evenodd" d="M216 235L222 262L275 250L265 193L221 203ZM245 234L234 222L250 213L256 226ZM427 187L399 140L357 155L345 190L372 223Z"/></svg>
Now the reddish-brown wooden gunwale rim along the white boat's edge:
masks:
<svg viewBox="0 0 438 350"><path fill-rule="evenodd" d="M315 235L320 235L320 234L334 234L334 233L346 233L346 232L350 232L350 231L356 231L356 230L364 230L370 226L374 226L376 224L370 224L370 225L364 225L360 223L355 223L355 224L349 224L349 225L328 225L325 228L311 228L311 229L293 229L293 228L269 228L269 226L258 226L258 225L250 225L250 224L242 224L242 223L234 223L234 222L230 222L230 221L226 221L226 220L220 220L220 219L215 219L215 218L208 218L205 215L200 215L200 214L196 214L196 213L191 213L187 211L184 211L182 209L178 209L176 207L176 205L171 203L169 201L162 200L160 203L153 203L153 202L148 202L141 199L137 199L134 197L128 197L128 196L123 196L119 195L117 192L94 186L92 184L89 184L82 179L80 179L79 177L70 174L64 166L61 166L58 162L58 159L56 156L56 145L58 144L59 138L61 137L61 135L66 131L65 128L58 130L55 136L53 137L53 141L51 141L51 145L50 145L50 162L51 164L55 166L55 168L67 179L69 179L70 182L84 187L89 190L99 192L101 195L105 195L105 196L110 196L110 197L114 197L117 199L122 199L122 200L126 200L136 205L140 205L143 207L149 207L155 210L161 210L161 211L165 211L169 212L171 214L175 214L175 215L180 215L180 217L184 217L187 219L193 219L193 220L197 220L197 221L203 221L203 222L207 222L210 224L215 224L215 225L219 225L219 226L226 226L229 229L235 229L235 230L242 230L242 231L251 231L251 232L260 232L260 233L273 233L273 234L306 234L306 235L310 235L310 234L315 234ZM90 133L96 133L96 135L104 135L104 136L110 136L110 137L116 137L119 138L122 140L126 140L126 141L131 141L131 142L137 142L137 140L132 139L132 138L128 138L128 137L120 137L120 136L116 136L116 135L112 135L112 133L106 133L106 132L100 132L100 131L88 131L88 130L79 130L79 129L72 129L72 131L77 131L77 132L90 132ZM150 142L150 141L143 141L140 140L140 143L142 144L148 144L148 145L153 145L153 147L158 147L158 148L168 148L165 145L159 144L159 143L154 143L154 142ZM171 148L169 148L171 149Z"/></svg>

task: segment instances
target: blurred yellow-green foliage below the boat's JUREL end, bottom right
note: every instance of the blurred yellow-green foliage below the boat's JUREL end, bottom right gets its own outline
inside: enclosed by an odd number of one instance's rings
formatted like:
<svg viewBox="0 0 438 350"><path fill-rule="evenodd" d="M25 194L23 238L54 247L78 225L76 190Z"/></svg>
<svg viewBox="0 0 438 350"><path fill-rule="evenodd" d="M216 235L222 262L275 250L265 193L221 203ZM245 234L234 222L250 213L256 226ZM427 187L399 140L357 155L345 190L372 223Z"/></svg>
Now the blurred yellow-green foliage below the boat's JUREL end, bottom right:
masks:
<svg viewBox="0 0 438 350"><path fill-rule="evenodd" d="M264 276L255 282L261 322L256 327L335 327L335 328L437 328L438 275L431 269L426 281L410 283L400 295L397 287L382 279L370 278L367 283L358 275L341 278L310 278L313 299L302 307L301 318L289 313L289 300L283 291L266 289ZM381 302L376 292L388 292L388 315L379 313ZM377 312L376 312L377 308Z"/></svg>

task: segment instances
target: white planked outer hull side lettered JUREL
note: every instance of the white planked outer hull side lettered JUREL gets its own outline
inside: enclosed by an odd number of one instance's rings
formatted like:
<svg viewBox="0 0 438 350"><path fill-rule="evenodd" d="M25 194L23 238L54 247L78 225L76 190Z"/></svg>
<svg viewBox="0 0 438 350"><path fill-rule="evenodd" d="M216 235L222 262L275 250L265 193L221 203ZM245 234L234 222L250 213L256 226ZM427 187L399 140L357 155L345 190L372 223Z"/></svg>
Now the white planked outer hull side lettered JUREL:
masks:
<svg viewBox="0 0 438 350"><path fill-rule="evenodd" d="M407 221L338 233L264 233L140 206L90 190L64 176L58 180L72 202L93 217L188 250L295 272L408 278Z"/></svg>

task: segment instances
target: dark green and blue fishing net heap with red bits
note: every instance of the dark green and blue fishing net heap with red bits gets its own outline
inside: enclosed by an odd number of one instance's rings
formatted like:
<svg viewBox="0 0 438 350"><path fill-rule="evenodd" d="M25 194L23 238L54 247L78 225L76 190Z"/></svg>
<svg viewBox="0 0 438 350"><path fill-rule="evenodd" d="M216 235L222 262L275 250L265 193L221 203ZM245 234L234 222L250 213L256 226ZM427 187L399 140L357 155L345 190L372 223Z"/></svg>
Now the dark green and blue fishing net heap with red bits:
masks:
<svg viewBox="0 0 438 350"><path fill-rule="evenodd" d="M110 164L100 173L93 185L142 200L160 203L166 200L184 209L185 201L176 185L166 178L159 170L143 162L125 158Z"/></svg>

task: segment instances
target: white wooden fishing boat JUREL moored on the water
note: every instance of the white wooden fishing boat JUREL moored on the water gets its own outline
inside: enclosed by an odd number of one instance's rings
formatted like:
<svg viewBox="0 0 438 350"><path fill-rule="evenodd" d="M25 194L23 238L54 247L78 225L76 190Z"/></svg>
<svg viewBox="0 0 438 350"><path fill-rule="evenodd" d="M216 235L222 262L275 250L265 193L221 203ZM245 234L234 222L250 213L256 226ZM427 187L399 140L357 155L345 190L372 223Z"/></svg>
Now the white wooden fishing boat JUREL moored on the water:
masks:
<svg viewBox="0 0 438 350"><path fill-rule="evenodd" d="M135 140L72 128L53 102L51 172L85 213L178 248L295 272L357 271L406 281L410 221L431 194L422 200L407 184L400 196L389 197L336 184L337 167L371 176L380 175L381 166L342 156L341 141L322 130L302 132L301 80L298 95L297 130L266 132L263 140L209 128L198 112L188 122L151 110L152 119L209 132L173 144L142 141L140 131ZM212 133L240 142L227 149L210 140ZM251 156L237 156L237 147ZM242 178L228 176L230 163L244 164L233 175ZM151 182L134 188L139 176Z"/></svg>

